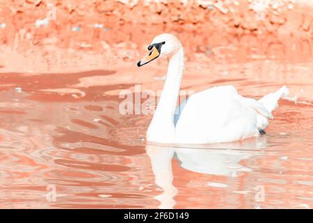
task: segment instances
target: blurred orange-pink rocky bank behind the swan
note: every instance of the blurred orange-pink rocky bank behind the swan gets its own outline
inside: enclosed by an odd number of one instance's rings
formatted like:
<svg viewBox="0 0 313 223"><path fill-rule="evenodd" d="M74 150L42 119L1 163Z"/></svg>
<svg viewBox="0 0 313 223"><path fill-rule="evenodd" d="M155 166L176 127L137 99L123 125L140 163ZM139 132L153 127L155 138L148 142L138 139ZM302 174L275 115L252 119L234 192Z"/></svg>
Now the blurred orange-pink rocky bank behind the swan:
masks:
<svg viewBox="0 0 313 223"><path fill-rule="evenodd" d="M278 36L290 36L310 45L312 9L313 1L307 0L1 1L0 68L2 72L114 68L118 62L138 59L151 39L163 32L179 36L186 54L207 55L218 41L232 44L244 36L252 36L248 39L252 45L259 43L255 36L267 42L284 42Z"/></svg>

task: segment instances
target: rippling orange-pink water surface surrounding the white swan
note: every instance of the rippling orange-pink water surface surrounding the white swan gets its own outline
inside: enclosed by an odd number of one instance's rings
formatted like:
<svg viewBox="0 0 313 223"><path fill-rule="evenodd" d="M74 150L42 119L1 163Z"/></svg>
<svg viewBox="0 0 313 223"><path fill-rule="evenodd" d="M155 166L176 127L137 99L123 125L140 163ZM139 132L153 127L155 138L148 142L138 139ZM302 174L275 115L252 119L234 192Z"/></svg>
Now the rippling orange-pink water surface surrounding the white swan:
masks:
<svg viewBox="0 0 313 223"><path fill-rule="evenodd" d="M265 136L233 144L146 145L151 116L120 114L122 89L161 89L164 60L1 73L0 208L312 208L313 47L230 40L187 46L182 89L234 84L259 98L286 84L298 96L280 101Z"/></svg>

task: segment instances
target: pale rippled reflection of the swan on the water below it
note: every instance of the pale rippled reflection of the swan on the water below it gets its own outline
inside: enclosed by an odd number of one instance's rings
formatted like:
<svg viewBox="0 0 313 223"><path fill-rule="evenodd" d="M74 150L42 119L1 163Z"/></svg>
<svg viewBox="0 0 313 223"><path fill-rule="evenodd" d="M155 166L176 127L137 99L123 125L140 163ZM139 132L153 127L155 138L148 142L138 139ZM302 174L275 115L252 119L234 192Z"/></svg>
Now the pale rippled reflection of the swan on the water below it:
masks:
<svg viewBox="0 0 313 223"><path fill-rule="evenodd" d="M177 188L172 184L172 159L177 158L180 167L200 174L230 176L236 178L241 171L252 171L240 162L254 155L262 155L266 148L266 137L258 137L232 143L211 144L207 146L161 146L147 144L155 183L163 192L154 199L161 204L159 208L174 208ZM179 177L179 176L178 176ZM218 185L218 183L217 183Z"/></svg>

